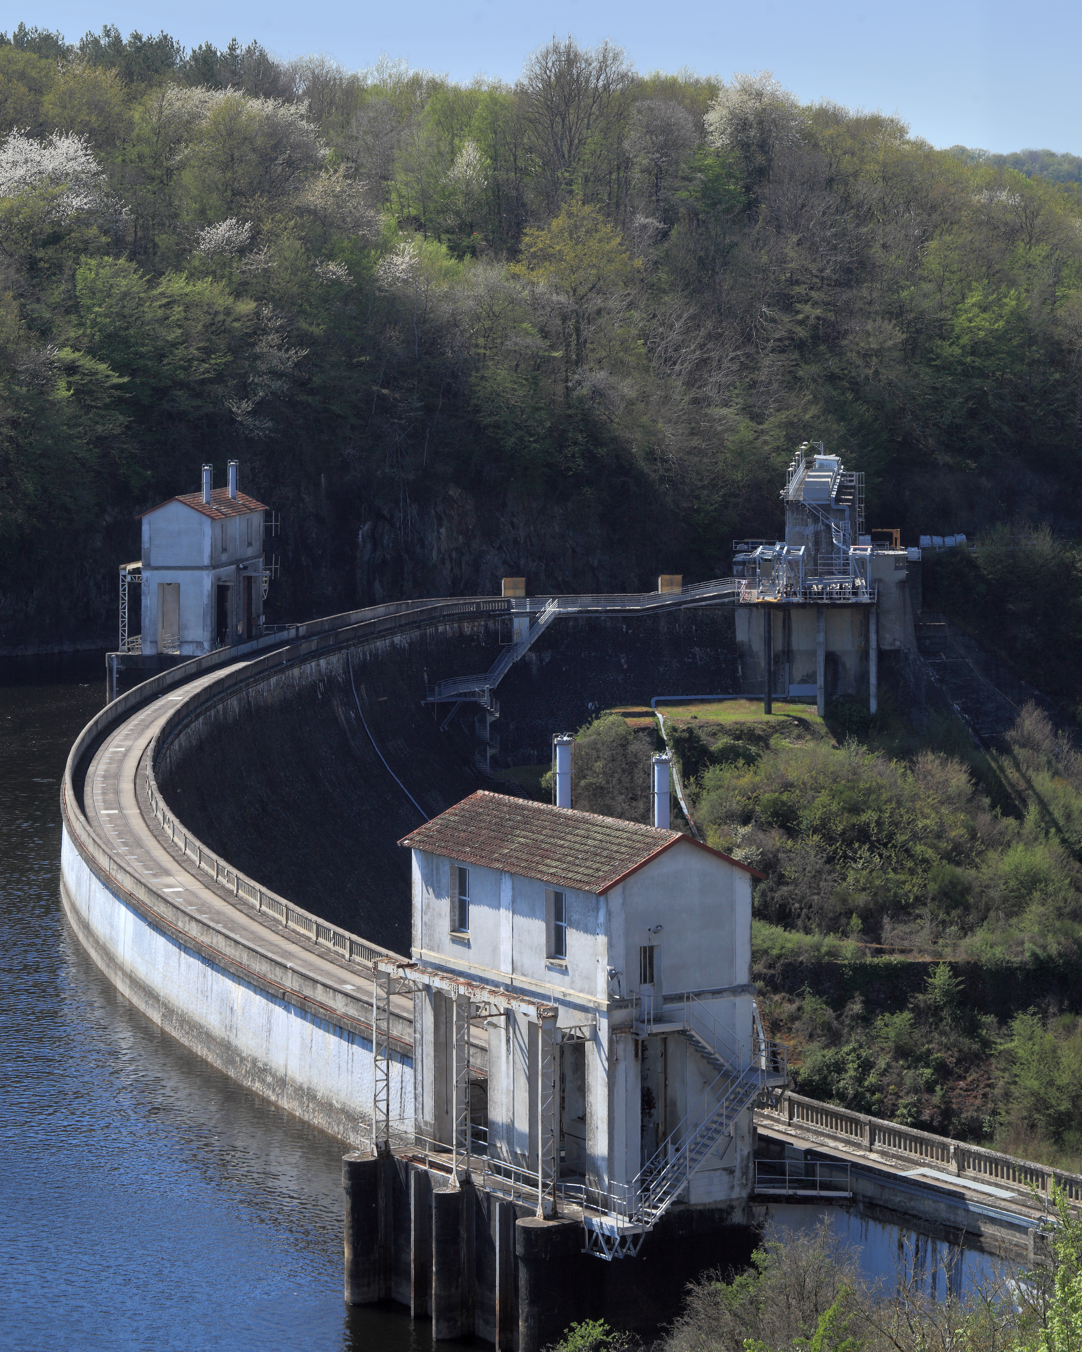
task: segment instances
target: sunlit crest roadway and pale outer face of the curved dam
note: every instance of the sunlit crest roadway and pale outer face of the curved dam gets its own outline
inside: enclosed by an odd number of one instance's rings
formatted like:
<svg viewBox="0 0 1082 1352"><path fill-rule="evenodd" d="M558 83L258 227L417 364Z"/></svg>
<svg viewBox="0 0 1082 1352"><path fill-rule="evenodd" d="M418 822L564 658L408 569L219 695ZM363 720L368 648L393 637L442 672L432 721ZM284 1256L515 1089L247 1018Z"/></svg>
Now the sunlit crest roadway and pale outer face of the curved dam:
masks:
<svg viewBox="0 0 1082 1352"><path fill-rule="evenodd" d="M410 611L377 607L360 622L392 629L415 623ZM257 906L243 904L250 892L239 891L235 871L215 863L208 876L207 852L183 827L166 831L150 795L151 749L176 719L270 672L318 667L356 622L335 617L293 630L285 644L266 638L185 662L107 706L80 734L65 769L61 895L83 945L149 1018L241 1083L367 1145L369 950L348 942L342 952L342 936L281 899L257 891ZM407 1002L391 1011L388 1053L391 1113L408 1117Z"/></svg>

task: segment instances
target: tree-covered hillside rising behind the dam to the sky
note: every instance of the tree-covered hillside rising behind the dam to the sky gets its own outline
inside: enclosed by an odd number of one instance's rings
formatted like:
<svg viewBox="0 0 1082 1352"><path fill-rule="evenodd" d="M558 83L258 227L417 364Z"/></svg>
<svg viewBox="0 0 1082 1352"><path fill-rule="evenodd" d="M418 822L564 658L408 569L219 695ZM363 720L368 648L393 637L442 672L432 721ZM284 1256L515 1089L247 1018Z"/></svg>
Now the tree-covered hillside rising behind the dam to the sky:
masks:
<svg viewBox="0 0 1082 1352"><path fill-rule="evenodd" d="M1077 183L569 39L457 85L20 27L0 134L0 649L108 635L204 460L279 615L725 572L805 439L871 525L1075 527Z"/></svg>

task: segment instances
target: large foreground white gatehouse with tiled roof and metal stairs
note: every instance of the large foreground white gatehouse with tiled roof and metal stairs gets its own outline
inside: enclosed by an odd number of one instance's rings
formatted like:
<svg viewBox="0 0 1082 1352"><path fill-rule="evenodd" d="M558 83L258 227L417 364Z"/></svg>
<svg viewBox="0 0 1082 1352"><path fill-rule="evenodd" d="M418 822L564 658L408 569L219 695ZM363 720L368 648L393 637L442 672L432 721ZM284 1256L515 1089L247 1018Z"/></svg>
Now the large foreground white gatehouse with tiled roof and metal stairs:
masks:
<svg viewBox="0 0 1082 1352"><path fill-rule="evenodd" d="M745 1197L751 1106L776 1082L751 984L760 875L675 830L491 792L402 844L417 1130L463 1145L483 1041L473 1140L540 1179L544 1214L578 1199L621 1242L672 1201Z"/></svg>

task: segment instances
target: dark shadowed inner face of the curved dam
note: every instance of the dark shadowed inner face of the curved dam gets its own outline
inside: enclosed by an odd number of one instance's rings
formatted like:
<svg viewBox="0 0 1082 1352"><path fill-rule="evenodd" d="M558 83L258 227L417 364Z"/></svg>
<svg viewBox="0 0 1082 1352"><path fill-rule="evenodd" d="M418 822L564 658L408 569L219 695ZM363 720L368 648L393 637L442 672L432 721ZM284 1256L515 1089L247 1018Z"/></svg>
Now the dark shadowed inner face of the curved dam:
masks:
<svg viewBox="0 0 1082 1352"><path fill-rule="evenodd" d="M653 695L738 688L734 612L557 619L500 683L495 765L548 763L550 735L592 713ZM241 685L184 725L158 784L177 818L264 887L354 934L410 952L410 854L396 842L477 788L477 704L446 731L450 706L426 680L483 672L500 652L496 621L433 623L360 641Z"/></svg>

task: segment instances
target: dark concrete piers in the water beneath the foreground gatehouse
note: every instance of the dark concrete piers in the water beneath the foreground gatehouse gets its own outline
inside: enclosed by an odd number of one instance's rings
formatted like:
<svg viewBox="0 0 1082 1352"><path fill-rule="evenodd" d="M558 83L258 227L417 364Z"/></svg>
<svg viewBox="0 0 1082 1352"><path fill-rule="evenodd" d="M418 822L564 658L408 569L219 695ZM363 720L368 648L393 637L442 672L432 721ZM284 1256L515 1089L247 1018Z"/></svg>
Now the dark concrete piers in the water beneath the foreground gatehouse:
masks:
<svg viewBox="0 0 1082 1352"><path fill-rule="evenodd" d="M578 1320L653 1328L688 1278L747 1261L756 1242L743 1209L680 1206L638 1257L601 1263L578 1218L540 1220L533 1205L387 1153L346 1155L342 1188L346 1302L394 1299L430 1318L436 1340L498 1352L541 1352Z"/></svg>

